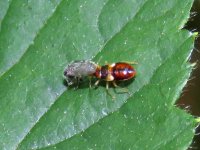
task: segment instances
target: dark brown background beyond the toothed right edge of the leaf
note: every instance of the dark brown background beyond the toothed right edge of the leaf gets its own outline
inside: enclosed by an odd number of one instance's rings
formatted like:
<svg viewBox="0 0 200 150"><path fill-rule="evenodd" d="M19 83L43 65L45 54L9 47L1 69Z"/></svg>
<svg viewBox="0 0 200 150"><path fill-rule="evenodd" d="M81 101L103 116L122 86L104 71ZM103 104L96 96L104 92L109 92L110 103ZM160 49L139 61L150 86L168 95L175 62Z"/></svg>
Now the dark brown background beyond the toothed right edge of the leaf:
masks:
<svg viewBox="0 0 200 150"><path fill-rule="evenodd" d="M184 27L191 32L198 32L190 62L196 63L190 80L177 103L177 105L194 116L200 117L200 0L195 0L191 9L190 19ZM189 150L200 150L200 126Z"/></svg>

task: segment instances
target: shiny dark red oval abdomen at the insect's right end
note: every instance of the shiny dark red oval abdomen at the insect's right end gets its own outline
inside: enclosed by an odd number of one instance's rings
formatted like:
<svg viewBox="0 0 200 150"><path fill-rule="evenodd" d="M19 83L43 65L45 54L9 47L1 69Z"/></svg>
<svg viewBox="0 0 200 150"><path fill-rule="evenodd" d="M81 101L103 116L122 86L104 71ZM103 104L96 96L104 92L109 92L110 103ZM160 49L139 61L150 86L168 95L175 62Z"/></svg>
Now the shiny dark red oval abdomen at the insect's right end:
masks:
<svg viewBox="0 0 200 150"><path fill-rule="evenodd" d="M115 80L128 80L135 76L136 71L128 63L116 63L112 69L112 76Z"/></svg>

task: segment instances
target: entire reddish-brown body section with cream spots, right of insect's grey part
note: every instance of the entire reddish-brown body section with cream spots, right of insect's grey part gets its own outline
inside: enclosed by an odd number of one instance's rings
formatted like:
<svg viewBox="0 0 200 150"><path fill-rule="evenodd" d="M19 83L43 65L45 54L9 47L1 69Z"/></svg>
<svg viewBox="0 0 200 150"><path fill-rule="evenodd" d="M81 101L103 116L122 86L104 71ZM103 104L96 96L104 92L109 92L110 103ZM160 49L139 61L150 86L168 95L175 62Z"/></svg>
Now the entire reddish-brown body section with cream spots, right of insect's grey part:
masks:
<svg viewBox="0 0 200 150"><path fill-rule="evenodd" d="M111 65L98 66L94 76L106 81L120 81L131 79L135 74L136 71L130 64L118 62Z"/></svg>

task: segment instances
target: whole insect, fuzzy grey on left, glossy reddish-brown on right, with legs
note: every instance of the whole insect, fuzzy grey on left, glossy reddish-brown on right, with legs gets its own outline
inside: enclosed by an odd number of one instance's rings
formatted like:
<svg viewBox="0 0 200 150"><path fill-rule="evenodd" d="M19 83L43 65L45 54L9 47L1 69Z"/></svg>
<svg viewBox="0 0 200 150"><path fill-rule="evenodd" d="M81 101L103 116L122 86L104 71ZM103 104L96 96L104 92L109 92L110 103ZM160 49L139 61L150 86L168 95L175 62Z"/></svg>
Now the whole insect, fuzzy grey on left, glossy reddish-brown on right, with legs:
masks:
<svg viewBox="0 0 200 150"><path fill-rule="evenodd" d="M116 81L125 81L135 77L136 71L131 64L136 64L136 62L117 62L100 66L90 60L74 61L67 66L64 75L69 85L79 83L80 79L85 76L97 78L95 86L101 80L105 80L108 92L109 82L112 82L114 87L119 87ZM128 92L128 90L123 88L123 92ZM108 94L112 96L109 92Z"/></svg>

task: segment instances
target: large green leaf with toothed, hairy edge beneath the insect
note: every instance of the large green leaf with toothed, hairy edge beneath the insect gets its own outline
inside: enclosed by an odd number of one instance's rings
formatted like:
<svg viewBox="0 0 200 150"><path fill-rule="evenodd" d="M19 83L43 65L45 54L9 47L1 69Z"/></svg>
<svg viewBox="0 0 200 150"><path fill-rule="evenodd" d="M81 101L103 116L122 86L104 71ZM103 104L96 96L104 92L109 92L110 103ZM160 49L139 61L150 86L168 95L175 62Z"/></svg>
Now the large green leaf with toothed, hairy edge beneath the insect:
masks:
<svg viewBox="0 0 200 150"><path fill-rule="evenodd" d="M187 149L196 122L174 103L192 70L192 2L0 2L0 149ZM119 83L131 95L68 88L64 68L83 59L137 61Z"/></svg>

